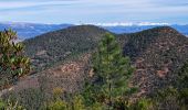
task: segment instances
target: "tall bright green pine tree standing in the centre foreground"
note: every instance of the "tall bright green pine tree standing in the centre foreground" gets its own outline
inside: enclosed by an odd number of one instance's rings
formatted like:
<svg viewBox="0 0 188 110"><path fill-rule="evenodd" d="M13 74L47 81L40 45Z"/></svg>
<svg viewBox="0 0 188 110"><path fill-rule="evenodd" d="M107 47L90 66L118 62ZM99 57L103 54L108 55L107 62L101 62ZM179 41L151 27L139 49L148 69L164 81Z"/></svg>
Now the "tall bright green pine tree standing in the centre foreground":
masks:
<svg viewBox="0 0 188 110"><path fill-rule="evenodd" d="M100 42L93 56L95 80L86 88L87 98L106 103L108 109L115 101L124 100L128 88L128 78L134 68L128 57L124 57L115 36L107 33Z"/></svg>

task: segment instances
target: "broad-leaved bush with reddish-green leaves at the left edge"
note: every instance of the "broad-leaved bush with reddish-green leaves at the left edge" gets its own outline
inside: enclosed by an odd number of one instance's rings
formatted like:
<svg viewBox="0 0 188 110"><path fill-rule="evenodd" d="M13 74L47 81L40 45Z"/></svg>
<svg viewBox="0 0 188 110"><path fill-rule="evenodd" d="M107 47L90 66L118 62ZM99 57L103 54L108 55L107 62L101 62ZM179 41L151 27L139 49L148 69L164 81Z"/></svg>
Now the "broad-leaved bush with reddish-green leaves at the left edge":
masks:
<svg viewBox="0 0 188 110"><path fill-rule="evenodd" d="M17 33L12 30L0 32L0 90L30 72L30 59L22 54L23 45L15 40Z"/></svg>

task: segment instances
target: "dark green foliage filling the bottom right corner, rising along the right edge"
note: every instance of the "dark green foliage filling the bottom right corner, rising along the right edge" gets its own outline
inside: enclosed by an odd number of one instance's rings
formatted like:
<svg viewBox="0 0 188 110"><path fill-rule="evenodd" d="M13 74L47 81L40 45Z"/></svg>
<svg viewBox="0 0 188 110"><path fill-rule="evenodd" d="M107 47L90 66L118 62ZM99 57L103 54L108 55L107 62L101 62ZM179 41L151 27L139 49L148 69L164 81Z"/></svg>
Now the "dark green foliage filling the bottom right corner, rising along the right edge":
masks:
<svg viewBox="0 0 188 110"><path fill-rule="evenodd" d="M187 110L188 109L188 63L186 62L178 70L176 81L160 89L153 96L158 109Z"/></svg>

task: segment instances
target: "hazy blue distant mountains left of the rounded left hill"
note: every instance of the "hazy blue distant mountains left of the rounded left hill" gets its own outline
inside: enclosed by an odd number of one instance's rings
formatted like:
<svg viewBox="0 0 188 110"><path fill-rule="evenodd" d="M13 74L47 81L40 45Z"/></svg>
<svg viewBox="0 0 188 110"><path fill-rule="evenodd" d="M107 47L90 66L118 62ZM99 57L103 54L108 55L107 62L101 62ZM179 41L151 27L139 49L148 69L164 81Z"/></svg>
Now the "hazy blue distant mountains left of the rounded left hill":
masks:
<svg viewBox="0 0 188 110"><path fill-rule="evenodd" d="M50 31L65 29L71 25L72 24L36 24L36 23L6 22L6 23L0 23L0 31L11 28L14 31L17 31L20 40L25 40Z"/></svg>

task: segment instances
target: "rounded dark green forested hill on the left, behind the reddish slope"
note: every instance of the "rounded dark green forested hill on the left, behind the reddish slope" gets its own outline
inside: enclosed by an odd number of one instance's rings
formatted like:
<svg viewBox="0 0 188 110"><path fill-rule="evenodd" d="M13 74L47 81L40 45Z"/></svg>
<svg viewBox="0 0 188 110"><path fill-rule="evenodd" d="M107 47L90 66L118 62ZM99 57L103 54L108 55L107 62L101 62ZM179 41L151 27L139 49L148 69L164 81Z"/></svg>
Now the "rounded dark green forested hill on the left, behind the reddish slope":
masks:
<svg viewBox="0 0 188 110"><path fill-rule="evenodd" d="M67 57L73 58L93 50L107 31L92 25L72 26L27 40L25 54L32 58L33 68L44 69Z"/></svg>

